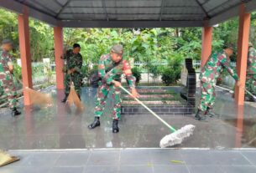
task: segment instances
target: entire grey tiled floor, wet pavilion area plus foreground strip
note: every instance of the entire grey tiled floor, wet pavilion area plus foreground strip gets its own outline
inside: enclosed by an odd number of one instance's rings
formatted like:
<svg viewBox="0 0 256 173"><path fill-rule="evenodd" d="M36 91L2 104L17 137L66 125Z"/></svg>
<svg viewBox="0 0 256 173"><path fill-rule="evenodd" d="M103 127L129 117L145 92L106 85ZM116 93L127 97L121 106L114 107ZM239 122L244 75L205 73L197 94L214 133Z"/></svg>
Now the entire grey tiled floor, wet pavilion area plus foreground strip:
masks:
<svg viewBox="0 0 256 173"><path fill-rule="evenodd" d="M55 90L54 107L26 107L15 118L2 111L0 149L21 160L1 167L0 173L256 172L256 150L244 149L256 146L255 103L236 107L229 93L218 90L214 109L219 118L199 122L194 115L161 115L175 128L193 124L196 130L181 145L159 149L159 140L170 131L150 114L123 115L120 132L112 134L111 100L101 126L88 130L95 93L83 89L83 114L66 109L60 103L63 91Z"/></svg>

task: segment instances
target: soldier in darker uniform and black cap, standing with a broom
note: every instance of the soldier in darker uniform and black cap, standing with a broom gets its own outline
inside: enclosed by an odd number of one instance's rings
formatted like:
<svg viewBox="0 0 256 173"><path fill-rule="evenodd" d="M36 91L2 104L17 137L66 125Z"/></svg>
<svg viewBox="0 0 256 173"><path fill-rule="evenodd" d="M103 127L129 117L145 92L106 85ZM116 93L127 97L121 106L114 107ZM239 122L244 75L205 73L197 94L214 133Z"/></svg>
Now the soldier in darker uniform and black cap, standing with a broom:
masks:
<svg viewBox="0 0 256 173"><path fill-rule="evenodd" d="M65 59L65 73L64 85L65 85L65 98L62 100L63 103L66 102L70 94L71 81L74 83L76 94L79 99L81 99L81 66L82 66L82 56L79 53L81 47L78 43L74 43L73 49L67 50L66 53L61 57Z"/></svg>

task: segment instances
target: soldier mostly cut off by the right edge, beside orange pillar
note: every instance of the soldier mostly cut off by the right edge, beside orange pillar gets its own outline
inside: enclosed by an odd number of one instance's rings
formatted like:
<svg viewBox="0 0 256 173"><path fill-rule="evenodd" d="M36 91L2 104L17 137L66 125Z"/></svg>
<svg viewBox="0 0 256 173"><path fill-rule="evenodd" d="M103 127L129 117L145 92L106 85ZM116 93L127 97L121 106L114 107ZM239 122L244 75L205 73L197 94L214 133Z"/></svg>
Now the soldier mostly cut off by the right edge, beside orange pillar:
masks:
<svg viewBox="0 0 256 173"><path fill-rule="evenodd" d="M246 73L246 89L252 94L256 94L256 49L253 48L253 44L249 43L248 47L248 61L247 61L247 73ZM248 101L254 101L251 95L246 94Z"/></svg>

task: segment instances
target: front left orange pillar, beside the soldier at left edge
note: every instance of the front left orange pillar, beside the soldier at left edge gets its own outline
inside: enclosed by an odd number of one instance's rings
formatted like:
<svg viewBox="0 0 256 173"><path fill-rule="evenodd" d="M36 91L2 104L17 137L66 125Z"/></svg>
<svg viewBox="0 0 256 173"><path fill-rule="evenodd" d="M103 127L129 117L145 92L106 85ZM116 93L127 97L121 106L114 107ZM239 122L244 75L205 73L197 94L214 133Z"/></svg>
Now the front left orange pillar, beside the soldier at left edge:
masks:
<svg viewBox="0 0 256 173"><path fill-rule="evenodd" d="M20 58L22 66L22 79L24 88L33 88L32 84L32 68L30 58L30 45L29 45L29 9L24 8L24 13L18 14L18 39ZM29 94L24 89L24 105L31 104Z"/></svg>

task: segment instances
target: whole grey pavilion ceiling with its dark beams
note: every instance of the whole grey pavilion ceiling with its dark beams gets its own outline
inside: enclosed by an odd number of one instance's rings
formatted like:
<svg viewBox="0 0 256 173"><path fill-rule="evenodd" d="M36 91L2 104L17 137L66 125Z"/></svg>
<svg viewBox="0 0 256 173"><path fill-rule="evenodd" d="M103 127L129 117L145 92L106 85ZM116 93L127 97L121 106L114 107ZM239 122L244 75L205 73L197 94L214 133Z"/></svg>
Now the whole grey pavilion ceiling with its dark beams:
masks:
<svg viewBox="0 0 256 173"><path fill-rule="evenodd" d="M16 13L63 27L201 27L238 16L240 4L255 0L0 0Z"/></svg>

